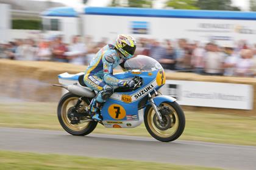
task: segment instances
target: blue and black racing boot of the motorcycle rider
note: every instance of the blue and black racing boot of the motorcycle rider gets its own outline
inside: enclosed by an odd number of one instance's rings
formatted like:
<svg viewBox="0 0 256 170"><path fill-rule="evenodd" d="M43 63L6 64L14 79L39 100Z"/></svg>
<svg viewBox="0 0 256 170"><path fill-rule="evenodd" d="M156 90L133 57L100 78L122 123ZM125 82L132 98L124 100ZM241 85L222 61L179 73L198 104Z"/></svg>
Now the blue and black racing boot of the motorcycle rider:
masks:
<svg viewBox="0 0 256 170"><path fill-rule="evenodd" d="M96 101L95 98L93 98L89 107L90 115L91 115L91 118L93 118L93 120L102 121L103 118L101 115L101 107L102 107L102 103L99 103L98 101Z"/></svg>

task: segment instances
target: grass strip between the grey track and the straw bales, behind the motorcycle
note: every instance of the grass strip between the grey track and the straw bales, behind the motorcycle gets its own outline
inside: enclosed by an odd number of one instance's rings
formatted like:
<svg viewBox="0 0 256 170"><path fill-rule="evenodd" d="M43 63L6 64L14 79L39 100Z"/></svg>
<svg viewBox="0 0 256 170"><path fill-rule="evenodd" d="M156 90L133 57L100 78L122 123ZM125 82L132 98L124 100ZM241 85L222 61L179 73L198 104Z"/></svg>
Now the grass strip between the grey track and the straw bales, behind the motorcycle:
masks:
<svg viewBox="0 0 256 170"><path fill-rule="evenodd" d="M56 103L2 103L0 126L62 130ZM256 118L230 114L185 112L186 127L180 139L256 146ZM144 124L133 129L110 129L98 124L102 134L150 137Z"/></svg>

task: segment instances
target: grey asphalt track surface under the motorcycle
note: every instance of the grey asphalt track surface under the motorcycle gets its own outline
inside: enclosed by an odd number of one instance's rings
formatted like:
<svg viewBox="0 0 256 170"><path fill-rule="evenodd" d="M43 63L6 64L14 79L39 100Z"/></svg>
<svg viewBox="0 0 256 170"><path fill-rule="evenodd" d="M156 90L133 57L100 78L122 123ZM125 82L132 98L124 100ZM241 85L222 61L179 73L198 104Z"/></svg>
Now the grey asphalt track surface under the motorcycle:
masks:
<svg viewBox="0 0 256 170"><path fill-rule="evenodd" d="M255 169L256 147L197 141L162 143L154 138L0 127L0 150L158 161L224 169Z"/></svg>

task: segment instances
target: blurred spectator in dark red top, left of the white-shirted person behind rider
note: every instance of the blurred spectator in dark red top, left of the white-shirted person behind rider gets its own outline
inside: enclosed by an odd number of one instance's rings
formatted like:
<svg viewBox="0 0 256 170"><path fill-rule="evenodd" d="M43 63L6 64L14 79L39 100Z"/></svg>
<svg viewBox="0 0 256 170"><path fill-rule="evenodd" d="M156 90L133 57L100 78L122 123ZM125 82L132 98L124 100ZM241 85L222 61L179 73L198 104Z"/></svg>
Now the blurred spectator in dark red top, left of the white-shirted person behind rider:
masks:
<svg viewBox="0 0 256 170"><path fill-rule="evenodd" d="M54 61L68 63L68 59L65 56L65 52L68 52L66 45L62 41L62 36L58 36L54 40L52 47L52 54Z"/></svg>

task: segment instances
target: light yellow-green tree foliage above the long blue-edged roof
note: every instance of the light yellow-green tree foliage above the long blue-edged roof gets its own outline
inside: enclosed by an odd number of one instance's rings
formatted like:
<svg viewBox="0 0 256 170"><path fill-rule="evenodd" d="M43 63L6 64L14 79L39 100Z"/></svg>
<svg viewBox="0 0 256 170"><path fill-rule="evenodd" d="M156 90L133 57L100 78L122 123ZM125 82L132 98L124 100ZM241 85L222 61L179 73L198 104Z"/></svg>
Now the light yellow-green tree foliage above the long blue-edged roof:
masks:
<svg viewBox="0 0 256 170"><path fill-rule="evenodd" d="M188 9L197 10L196 0L169 0L166 2L166 7L172 7L174 9Z"/></svg>

